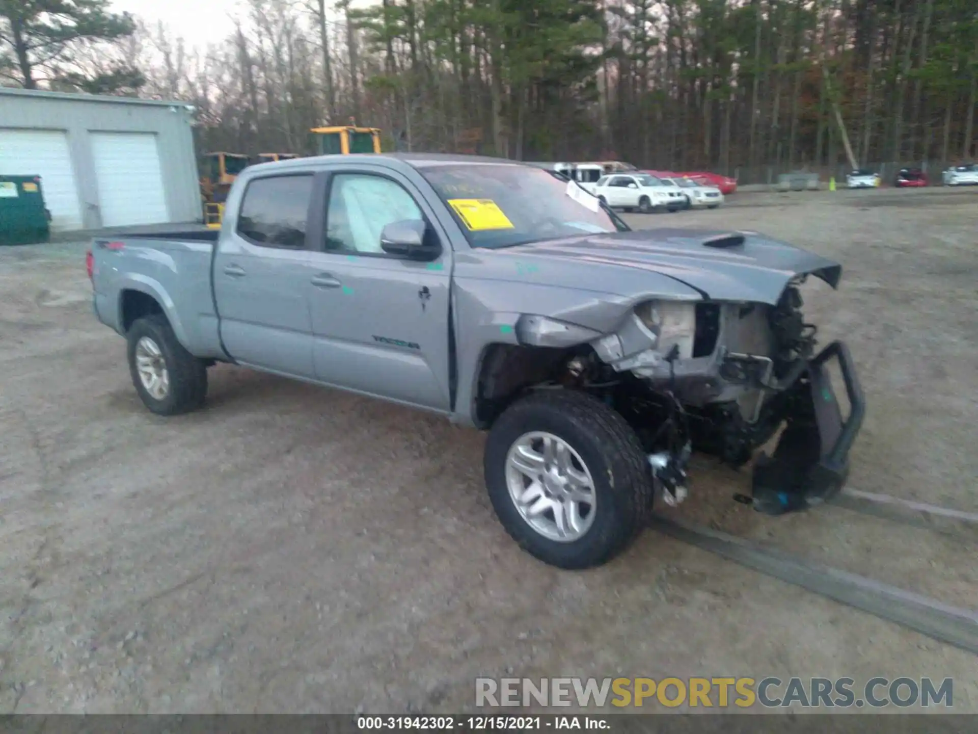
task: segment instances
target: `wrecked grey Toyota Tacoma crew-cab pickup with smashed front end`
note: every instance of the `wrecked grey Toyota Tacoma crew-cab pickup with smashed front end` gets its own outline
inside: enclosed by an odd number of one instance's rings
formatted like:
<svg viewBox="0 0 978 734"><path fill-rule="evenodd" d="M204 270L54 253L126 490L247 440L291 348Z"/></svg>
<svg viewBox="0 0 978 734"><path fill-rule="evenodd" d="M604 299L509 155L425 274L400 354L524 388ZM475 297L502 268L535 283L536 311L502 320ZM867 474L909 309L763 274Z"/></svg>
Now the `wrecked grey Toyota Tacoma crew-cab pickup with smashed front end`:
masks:
<svg viewBox="0 0 978 734"><path fill-rule="evenodd" d="M230 362L487 430L500 521L561 568L620 553L653 497L681 502L693 449L753 459L739 499L759 511L823 501L865 410L848 350L817 353L801 312L799 285L835 287L838 263L750 233L633 231L512 161L255 165L219 233L99 238L88 268L153 412L199 407Z"/></svg>

